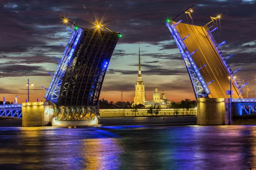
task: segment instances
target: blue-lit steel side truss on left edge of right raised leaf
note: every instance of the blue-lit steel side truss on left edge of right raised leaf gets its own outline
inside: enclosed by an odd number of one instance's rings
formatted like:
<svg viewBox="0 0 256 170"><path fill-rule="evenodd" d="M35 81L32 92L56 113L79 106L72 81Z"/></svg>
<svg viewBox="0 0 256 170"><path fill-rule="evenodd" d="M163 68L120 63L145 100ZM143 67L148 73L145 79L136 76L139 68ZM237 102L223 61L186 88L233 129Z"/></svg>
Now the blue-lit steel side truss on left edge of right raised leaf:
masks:
<svg viewBox="0 0 256 170"><path fill-rule="evenodd" d="M172 21L170 21L169 23L166 22L166 26L171 31L172 37L174 38L180 50L180 54L183 58L183 61L185 62L186 69L189 73L189 78L191 80L191 83L194 89L195 97L196 98L208 97L208 95L210 94L210 91L207 86L207 83L204 81L204 78L202 77L197 65L195 64L192 58L192 55L190 54L185 43L183 42L183 39L181 38L180 33L177 31L175 24L173 24Z"/></svg>

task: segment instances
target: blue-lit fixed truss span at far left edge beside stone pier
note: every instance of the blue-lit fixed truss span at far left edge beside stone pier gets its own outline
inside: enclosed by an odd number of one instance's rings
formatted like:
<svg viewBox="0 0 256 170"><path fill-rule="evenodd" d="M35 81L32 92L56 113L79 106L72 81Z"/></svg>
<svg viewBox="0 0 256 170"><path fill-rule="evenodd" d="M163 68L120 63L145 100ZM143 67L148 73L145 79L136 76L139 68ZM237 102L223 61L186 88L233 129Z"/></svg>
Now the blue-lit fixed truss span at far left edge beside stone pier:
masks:
<svg viewBox="0 0 256 170"><path fill-rule="evenodd" d="M0 105L0 118L22 119L22 104Z"/></svg>

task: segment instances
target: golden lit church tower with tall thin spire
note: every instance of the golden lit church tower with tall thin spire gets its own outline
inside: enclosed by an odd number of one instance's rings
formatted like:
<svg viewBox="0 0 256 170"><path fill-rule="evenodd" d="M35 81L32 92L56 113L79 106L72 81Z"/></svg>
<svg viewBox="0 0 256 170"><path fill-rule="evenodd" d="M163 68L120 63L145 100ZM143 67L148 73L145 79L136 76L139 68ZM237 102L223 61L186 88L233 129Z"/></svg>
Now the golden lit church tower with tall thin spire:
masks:
<svg viewBox="0 0 256 170"><path fill-rule="evenodd" d="M142 81L142 75L140 70L140 42L139 42L139 74L138 74L138 81L135 84L135 96L134 96L134 105L135 104L145 105L145 85Z"/></svg>

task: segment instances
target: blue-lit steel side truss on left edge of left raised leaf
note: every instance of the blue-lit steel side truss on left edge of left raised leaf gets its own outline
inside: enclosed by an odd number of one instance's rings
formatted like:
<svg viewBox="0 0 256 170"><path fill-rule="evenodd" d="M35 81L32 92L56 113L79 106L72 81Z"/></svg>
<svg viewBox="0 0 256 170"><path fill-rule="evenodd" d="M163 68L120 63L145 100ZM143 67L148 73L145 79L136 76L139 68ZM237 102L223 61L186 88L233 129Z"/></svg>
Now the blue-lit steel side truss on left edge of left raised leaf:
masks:
<svg viewBox="0 0 256 170"><path fill-rule="evenodd" d="M74 51L76 50L76 45L79 42L79 38L82 34L83 29L79 28L77 31L74 31L66 48L62 55L61 61L58 64L58 67L55 71L55 74L52 77L52 81L50 82L49 88L47 89L47 93L44 98L54 102L55 104L58 102L58 96L61 89L61 84L63 81L63 77L67 70L70 61L73 59L72 56Z"/></svg>

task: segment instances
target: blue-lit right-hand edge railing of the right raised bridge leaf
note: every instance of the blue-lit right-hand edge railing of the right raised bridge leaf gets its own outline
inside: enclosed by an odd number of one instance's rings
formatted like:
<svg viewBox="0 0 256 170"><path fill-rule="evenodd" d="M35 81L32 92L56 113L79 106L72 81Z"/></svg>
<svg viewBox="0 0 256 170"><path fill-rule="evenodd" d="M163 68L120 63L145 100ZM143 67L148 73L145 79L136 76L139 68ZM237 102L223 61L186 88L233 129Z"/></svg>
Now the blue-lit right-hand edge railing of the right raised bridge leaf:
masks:
<svg viewBox="0 0 256 170"><path fill-rule="evenodd" d="M206 32L207 32L207 34L208 34L208 37L207 37L207 38L212 41L213 45L215 46L216 51L218 51L219 57L221 58L221 60L222 60L222 62L223 62L223 65L225 66L225 68L227 69L228 73L229 73L230 76L232 77L233 82L235 83L236 87L237 87L237 88L239 89L239 91L240 91L240 94L243 95L244 92L243 92L241 86L239 85L239 82L238 82L236 79L233 78L233 77L234 77L234 73L233 73L233 71L231 70L230 65L228 65L226 58L225 58L224 55L222 54L219 45L217 44L217 42L215 41L214 37L212 36L211 31L209 30L208 26L204 26L204 28L205 28L205 30L206 30ZM227 57L227 58L228 58L228 57ZM234 81L234 80L235 80L235 81Z"/></svg>

